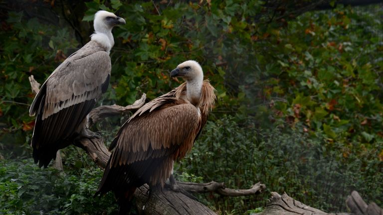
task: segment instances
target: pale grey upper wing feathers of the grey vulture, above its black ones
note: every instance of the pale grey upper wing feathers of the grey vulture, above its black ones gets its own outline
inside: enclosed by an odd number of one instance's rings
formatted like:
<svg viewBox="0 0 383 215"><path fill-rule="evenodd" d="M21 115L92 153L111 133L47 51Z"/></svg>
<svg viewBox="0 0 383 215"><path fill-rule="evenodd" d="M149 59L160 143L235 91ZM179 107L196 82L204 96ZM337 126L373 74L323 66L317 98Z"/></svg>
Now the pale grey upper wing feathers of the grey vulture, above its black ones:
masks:
<svg viewBox="0 0 383 215"><path fill-rule="evenodd" d="M100 51L75 61L63 62L56 70L46 81L42 119L63 108L97 99L103 93L103 84L110 77L110 57Z"/></svg>

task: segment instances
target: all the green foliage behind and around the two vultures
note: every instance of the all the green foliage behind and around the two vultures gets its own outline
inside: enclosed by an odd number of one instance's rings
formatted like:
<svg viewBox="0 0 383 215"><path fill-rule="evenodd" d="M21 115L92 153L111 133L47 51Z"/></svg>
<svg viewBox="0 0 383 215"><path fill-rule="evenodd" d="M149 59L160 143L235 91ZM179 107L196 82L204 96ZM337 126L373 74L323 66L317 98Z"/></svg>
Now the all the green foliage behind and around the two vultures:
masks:
<svg viewBox="0 0 383 215"><path fill-rule="evenodd" d="M327 10L320 10L327 8ZM220 214L262 208L269 192L346 212L352 190L383 206L383 4L332 0L12 0L0 2L0 214L114 214L93 198L102 170L79 148L64 171L33 164L28 76L42 83L89 41L93 14L113 30L112 79L98 105L128 105L178 86L169 71L198 61L217 89L213 109L178 180L224 182L253 197L198 199ZM96 125L109 144L129 115ZM261 209L258 209L258 211Z"/></svg>

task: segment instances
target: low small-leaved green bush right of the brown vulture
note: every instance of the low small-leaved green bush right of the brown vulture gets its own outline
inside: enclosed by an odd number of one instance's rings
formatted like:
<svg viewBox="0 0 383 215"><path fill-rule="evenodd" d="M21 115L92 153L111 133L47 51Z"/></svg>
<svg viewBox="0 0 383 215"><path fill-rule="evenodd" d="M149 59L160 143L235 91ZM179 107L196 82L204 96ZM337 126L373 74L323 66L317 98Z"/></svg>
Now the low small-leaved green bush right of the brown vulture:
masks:
<svg viewBox="0 0 383 215"><path fill-rule="evenodd" d="M224 182L230 188L248 189L258 181L266 184L260 197L204 196L207 204L213 201L214 208L226 212L235 209L241 214L263 207L271 191L286 192L330 212L345 212L345 200L353 190L382 205L382 141L377 148L367 148L358 142L329 143L324 135L310 137L278 127L257 130L250 119L238 122L225 116L208 122L192 153L176 169L183 175L198 173L202 177L198 181Z"/></svg>

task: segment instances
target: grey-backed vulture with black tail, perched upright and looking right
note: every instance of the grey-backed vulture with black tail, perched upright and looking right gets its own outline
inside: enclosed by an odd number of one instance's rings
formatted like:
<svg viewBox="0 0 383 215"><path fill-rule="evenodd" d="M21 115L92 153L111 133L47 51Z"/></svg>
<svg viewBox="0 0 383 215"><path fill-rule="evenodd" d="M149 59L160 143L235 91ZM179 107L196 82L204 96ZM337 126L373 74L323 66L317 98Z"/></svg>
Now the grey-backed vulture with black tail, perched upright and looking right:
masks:
<svg viewBox="0 0 383 215"><path fill-rule="evenodd" d="M31 146L40 167L75 138L99 136L86 127L86 116L108 88L112 28L119 24L125 20L114 13L96 12L90 42L62 62L34 98L29 109L29 115L36 114Z"/></svg>

